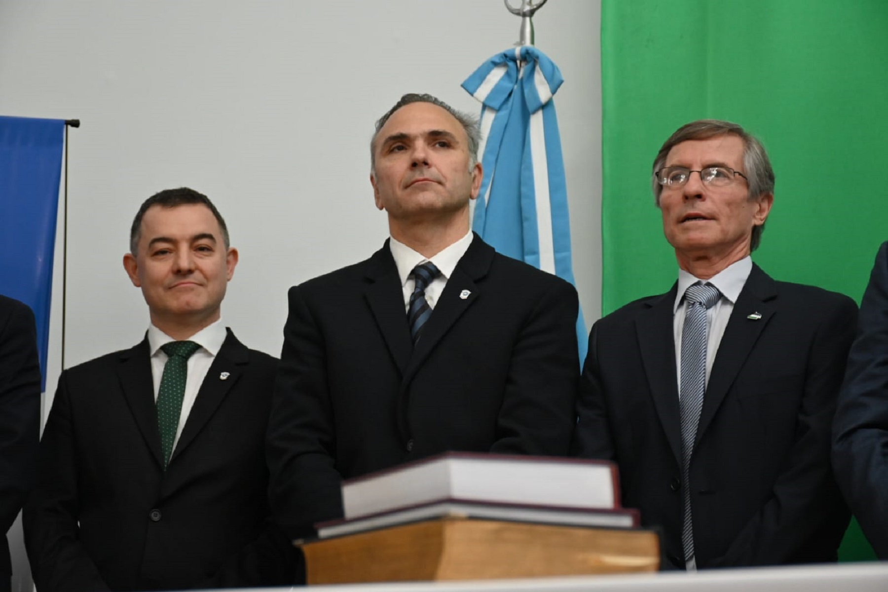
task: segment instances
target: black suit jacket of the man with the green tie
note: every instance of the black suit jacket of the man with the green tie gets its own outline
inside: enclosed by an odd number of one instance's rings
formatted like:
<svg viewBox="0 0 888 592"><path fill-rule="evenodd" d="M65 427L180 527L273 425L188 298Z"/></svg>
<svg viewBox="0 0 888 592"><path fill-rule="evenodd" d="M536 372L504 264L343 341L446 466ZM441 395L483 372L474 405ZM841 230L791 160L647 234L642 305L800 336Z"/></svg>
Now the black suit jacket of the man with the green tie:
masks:
<svg viewBox="0 0 888 592"><path fill-rule="evenodd" d="M295 553L266 525L275 369L229 331L165 472L147 339L65 370L24 514L37 589L291 582Z"/></svg>

